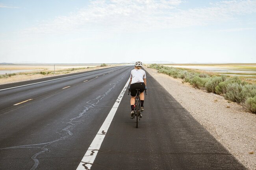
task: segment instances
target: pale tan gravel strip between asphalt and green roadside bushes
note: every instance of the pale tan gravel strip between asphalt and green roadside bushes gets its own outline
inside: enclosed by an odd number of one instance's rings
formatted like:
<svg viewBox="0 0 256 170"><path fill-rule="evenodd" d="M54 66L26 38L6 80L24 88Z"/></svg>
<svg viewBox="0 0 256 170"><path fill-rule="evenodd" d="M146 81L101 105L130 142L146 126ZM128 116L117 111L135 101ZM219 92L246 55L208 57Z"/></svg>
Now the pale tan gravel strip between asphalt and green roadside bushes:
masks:
<svg viewBox="0 0 256 170"><path fill-rule="evenodd" d="M249 170L256 170L256 114L214 93L198 90L182 79L143 68Z"/></svg>

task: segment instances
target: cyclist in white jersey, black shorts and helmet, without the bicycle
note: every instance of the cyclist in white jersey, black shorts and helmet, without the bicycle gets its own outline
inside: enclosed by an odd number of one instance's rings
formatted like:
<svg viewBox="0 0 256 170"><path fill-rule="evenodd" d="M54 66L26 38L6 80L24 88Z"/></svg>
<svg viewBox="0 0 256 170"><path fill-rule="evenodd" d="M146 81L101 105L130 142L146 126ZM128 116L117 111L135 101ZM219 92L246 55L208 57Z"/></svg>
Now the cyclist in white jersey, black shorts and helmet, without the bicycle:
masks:
<svg viewBox="0 0 256 170"><path fill-rule="evenodd" d="M138 61L135 63L134 65L134 69L131 71L131 76L130 76L130 92L131 92L131 100L130 100L130 104L131 104L131 108L132 108L132 112L131 112L131 119L134 118L134 105L135 105L135 96L136 96L136 89L140 89L140 94L139 94L139 99L141 101L141 112L144 111L144 93L143 91L145 90L145 87L147 85L147 81L146 81L146 72L141 69L142 67L142 62ZM142 117L142 115L140 115L140 117Z"/></svg>

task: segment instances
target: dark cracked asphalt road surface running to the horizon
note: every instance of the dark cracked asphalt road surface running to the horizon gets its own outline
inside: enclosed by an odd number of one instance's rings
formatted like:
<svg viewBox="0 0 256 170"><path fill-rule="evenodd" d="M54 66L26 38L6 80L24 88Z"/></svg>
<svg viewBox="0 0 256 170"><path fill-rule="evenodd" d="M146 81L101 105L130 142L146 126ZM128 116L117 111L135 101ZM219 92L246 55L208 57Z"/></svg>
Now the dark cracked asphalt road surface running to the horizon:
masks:
<svg viewBox="0 0 256 170"><path fill-rule="evenodd" d="M0 170L76 170L132 68L1 85ZM149 74L147 82L139 127L126 91L100 149L91 152L92 170L245 169Z"/></svg>

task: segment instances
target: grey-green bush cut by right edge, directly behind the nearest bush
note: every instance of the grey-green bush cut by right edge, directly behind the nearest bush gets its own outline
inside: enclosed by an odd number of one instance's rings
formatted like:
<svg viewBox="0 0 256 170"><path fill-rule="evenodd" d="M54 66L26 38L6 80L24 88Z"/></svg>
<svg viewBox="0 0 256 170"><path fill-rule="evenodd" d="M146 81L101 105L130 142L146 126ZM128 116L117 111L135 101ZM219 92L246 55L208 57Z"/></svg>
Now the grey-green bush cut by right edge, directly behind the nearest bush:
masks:
<svg viewBox="0 0 256 170"><path fill-rule="evenodd" d="M240 92L239 102L245 102L247 98L254 96L256 96L256 84L246 84Z"/></svg>

